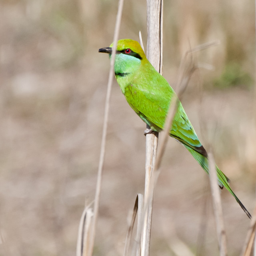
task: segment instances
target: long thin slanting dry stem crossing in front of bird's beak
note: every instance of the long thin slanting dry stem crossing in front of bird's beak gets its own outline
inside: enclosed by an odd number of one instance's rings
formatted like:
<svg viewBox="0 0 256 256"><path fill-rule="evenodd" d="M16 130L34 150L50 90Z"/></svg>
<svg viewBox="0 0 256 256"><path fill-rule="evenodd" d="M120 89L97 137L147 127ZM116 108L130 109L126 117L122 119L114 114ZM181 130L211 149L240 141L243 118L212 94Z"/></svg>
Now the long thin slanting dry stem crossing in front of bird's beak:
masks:
<svg viewBox="0 0 256 256"><path fill-rule="evenodd" d="M111 58L111 62L110 62L110 71L109 71L109 77L108 77L108 87L107 87L107 93L106 93L102 140L101 140L101 147L100 147L100 160L99 160L99 166L98 166L98 176L97 176L97 184L96 184L96 192L95 192L95 200L94 200L94 210L93 210L94 215L92 218L92 226L91 226L91 230L90 230L88 256L92 255L94 240L95 240L95 233L96 233L96 222L97 222L97 218L98 218L98 210L99 210L99 202L100 202L102 168L103 168L104 156L105 156L105 151L106 151L106 134L107 134L107 127L108 127L109 102L110 102L112 81L113 81L113 76L114 76L114 72L113 72L114 71L114 60L115 60L115 55L116 55L116 46L117 46L118 34L119 34L119 30L120 30L123 5L124 5L124 0L119 0L118 12L117 12L117 16L116 16L116 25L115 25L115 30L114 30L114 44L112 47L112 49L113 49L112 58Z"/></svg>

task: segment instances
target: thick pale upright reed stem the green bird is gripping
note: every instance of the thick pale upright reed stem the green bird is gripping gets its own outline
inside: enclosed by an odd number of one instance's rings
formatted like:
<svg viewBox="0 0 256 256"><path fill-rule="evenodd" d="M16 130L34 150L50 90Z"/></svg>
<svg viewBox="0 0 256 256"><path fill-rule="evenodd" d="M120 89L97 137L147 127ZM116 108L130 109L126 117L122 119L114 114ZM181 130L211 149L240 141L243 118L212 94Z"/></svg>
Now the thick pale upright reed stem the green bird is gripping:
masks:
<svg viewBox="0 0 256 256"><path fill-rule="evenodd" d="M147 0L147 58L150 63L162 74L162 0ZM147 126L148 128L148 126ZM141 240L141 255L148 256L150 248L150 232L152 222L154 186L151 176L154 172L158 134L146 135L146 164L145 164L145 192L144 192L144 225Z"/></svg>

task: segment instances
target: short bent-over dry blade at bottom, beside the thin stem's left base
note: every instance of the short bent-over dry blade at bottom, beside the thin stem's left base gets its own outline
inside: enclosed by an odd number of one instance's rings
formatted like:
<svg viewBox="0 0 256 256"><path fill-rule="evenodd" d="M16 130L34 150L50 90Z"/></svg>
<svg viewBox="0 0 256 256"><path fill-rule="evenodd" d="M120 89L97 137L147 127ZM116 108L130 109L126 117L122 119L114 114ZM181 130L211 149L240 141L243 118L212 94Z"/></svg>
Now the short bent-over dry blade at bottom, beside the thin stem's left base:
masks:
<svg viewBox="0 0 256 256"><path fill-rule="evenodd" d="M88 255L88 242L90 237L90 229L92 224L92 208L86 207L82 213L79 228L78 228L78 238L76 244L76 256L86 256Z"/></svg>

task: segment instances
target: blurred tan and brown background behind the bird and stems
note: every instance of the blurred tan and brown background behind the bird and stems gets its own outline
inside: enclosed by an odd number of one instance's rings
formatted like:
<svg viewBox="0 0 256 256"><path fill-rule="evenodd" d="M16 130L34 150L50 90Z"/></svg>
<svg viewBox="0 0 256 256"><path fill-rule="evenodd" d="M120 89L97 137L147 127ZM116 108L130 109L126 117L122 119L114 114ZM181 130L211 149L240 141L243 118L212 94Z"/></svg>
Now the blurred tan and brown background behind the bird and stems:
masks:
<svg viewBox="0 0 256 256"><path fill-rule="evenodd" d="M92 202L118 1L0 2L0 255L74 255ZM254 1L164 2L164 76L175 88L186 50L200 69L182 103L206 148L252 212L255 205ZM146 1L125 1L119 38L146 46ZM94 255L122 255L127 216L144 190L145 124L114 81ZM225 190L229 255L239 255L249 219ZM155 190L152 255L218 255L207 175L168 141ZM188 255L185 252L182 255Z"/></svg>

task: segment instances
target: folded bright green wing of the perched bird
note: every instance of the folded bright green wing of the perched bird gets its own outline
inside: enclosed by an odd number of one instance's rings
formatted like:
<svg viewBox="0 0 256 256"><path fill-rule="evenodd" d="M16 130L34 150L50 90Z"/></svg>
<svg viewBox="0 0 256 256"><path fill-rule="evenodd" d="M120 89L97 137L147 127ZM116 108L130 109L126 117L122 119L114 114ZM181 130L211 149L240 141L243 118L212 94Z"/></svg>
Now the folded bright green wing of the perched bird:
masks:
<svg viewBox="0 0 256 256"><path fill-rule="evenodd" d="M164 81L166 82L166 80ZM158 83L158 85L159 84L163 83ZM146 124L158 132L164 128L165 118L174 94L175 92L168 83L154 90L152 90L152 86L150 90L148 90L147 87L142 88L136 83L133 83L126 86L124 93L127 102L133 110ZM180 102L178 103L178 109L172 122L170 136L200 154L207 156L206 150L198 140L196 132Z"/></svg>

